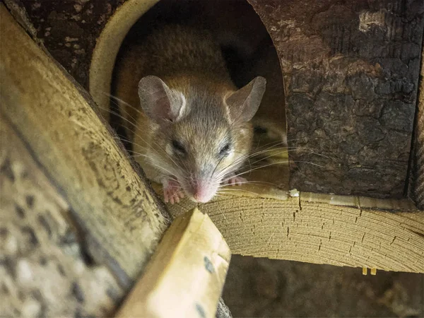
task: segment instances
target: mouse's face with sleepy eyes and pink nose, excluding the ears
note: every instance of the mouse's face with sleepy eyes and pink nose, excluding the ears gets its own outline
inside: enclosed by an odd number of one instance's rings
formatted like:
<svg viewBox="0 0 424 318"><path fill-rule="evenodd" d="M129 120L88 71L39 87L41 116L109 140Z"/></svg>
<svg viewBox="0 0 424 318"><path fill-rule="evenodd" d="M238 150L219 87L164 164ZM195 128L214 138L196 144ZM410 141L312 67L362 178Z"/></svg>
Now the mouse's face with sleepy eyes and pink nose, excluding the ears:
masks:
<svg viewBox="0 0 424 318"><path fill-rule="evenodd" d="M205 116L206 115L206 116ZM185 194L193 201L207 202L218 192L221 182L245 162L252 143L248 123L231 124L223 114L192 112L173 124L166 134L168 166Z"/></svg>

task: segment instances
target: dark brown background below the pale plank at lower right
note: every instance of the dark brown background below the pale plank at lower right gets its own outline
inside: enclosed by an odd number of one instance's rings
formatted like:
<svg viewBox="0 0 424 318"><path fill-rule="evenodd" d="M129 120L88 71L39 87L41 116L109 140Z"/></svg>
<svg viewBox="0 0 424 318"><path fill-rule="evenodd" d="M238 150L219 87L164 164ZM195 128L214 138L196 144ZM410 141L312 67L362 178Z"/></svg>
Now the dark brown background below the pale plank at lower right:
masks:
<svg viewBox="0 0 424 318"><path fill-rule="evenodd" d="M424 276L233 255L233 317L424 317Z"/></svg>

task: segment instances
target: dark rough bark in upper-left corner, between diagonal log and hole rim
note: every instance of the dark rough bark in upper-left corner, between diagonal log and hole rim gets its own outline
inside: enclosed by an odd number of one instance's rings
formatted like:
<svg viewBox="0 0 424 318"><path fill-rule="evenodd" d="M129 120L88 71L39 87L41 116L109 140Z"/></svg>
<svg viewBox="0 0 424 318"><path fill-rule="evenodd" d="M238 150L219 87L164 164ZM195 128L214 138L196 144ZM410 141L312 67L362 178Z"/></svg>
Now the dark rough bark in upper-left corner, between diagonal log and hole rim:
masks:
<svg viewBox="0 0 424 318"><path fill-rule="evenodd" d="M95 42L107 20L124 0L6 0L25 9L35 36L73 78L88 88Z"/></svg>

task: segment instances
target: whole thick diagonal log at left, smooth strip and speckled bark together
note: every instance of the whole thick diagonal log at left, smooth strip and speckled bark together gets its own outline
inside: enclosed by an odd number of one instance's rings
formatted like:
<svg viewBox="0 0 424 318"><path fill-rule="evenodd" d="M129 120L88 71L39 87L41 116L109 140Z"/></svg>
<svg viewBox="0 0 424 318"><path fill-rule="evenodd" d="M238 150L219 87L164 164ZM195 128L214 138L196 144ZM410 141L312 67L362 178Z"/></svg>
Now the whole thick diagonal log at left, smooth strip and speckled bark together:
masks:
<svg viewBox="0 0 424 318"><path fill-rule="evenodd" d="M18 316L22 302L29 315L105 315L146 266L170 216L88 94L3 4L0 36L0 290L16 300L1 301L1 312Z"/></svg>

